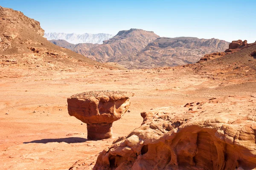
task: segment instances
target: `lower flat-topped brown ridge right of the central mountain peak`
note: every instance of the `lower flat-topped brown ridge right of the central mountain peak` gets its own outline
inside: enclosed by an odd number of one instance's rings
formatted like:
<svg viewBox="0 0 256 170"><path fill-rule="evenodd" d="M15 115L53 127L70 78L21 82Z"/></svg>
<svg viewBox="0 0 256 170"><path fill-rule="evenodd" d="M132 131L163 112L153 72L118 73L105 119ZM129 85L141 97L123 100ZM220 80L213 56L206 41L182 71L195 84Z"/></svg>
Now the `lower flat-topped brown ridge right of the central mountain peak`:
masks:
<svg viewBox="0 0 256 170"><path fill-rule="evenodd" d="M197 62L205 54L227 49L224 40L195 37L160 37L149 43L133 61L137 68L155 68L185 65ZM129 68L136 68L130 65Z"/></svg>

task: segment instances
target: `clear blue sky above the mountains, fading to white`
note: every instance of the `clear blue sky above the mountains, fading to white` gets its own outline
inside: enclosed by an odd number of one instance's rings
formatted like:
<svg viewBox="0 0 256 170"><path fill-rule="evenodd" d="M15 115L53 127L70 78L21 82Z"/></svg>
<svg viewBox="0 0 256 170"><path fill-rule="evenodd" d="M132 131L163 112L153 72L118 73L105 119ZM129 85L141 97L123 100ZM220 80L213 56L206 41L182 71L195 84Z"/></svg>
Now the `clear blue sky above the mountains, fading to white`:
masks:
<svg viewBox="0 0 256 170"><path fill-rule="evenodd" d="M45 32L108 33L141 28L161 37L256 40L256 0L1 0Z"/></svg>

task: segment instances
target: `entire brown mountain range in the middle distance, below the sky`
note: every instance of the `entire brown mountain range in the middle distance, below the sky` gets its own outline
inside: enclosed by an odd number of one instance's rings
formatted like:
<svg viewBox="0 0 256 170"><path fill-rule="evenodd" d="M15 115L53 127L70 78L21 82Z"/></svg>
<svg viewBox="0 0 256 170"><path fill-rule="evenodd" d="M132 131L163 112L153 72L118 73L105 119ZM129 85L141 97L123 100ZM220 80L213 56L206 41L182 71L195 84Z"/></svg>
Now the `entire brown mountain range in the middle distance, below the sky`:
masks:
<svg viewBox="0 0 256 170"><path fill-rule="evenodd" d="M172 67L198 62L205 54L225 51L230 42L196 37L159 37L153 31L134 29L119 31L103 44L71 44L50 40L99 62L116 62L128 69Z"/></svg>

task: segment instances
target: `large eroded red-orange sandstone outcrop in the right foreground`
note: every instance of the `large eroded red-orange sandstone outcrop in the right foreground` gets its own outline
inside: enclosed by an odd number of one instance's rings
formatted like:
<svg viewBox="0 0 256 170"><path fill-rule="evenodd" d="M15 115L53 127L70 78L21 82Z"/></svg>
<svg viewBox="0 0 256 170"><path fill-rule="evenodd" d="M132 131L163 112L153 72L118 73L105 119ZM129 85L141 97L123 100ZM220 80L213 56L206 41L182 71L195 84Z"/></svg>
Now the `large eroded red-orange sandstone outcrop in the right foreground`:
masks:
<svg viewBox="0 0 256 170"><path fill-rule="evenodd" d="M253 96L230 96L143 112L142 125L103 150L93 169L255 169L255 107Z"/></svg>

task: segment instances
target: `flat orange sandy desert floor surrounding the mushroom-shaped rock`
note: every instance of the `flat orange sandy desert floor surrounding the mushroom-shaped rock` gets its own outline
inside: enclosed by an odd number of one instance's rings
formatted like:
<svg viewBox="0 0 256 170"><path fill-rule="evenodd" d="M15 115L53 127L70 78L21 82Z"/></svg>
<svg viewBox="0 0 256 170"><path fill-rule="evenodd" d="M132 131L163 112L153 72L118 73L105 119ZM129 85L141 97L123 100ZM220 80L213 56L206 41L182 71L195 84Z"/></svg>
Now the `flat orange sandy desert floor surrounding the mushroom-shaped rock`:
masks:
<svg viewBox="0 0 256 170"><path fill-rule="evenodd" d="M88 169L93 167L90 163L95 162L99 152L111 145L113 139L87 141L86 125L67 112L67 98L76 93L134 92L130 112L113 123L113 136L117 138L139 127L143 120L140 113L151 108L256 92L254 81L211 79L187 74L189 69L119 71L81 67L70 71L40 71L40 68L1 68L1 73L7 75L0 78L1 169L67 170L79 159L87 160L84 164Z"/></svg>

